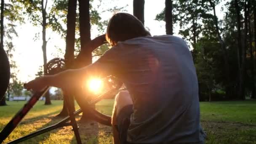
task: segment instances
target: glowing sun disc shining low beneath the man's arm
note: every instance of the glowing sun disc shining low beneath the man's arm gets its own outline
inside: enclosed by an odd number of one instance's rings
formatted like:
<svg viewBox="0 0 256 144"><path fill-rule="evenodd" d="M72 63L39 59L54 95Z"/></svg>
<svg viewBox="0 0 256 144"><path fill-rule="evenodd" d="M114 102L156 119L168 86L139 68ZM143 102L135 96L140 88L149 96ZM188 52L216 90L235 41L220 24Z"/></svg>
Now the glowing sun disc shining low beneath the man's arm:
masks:
<svg viewBox="0 0 256 144"><path fill-rule="evenodd" d="M102 91L103 82L100 78L92 78L88 80L88 88L91 92L98 94Z"/></svg>

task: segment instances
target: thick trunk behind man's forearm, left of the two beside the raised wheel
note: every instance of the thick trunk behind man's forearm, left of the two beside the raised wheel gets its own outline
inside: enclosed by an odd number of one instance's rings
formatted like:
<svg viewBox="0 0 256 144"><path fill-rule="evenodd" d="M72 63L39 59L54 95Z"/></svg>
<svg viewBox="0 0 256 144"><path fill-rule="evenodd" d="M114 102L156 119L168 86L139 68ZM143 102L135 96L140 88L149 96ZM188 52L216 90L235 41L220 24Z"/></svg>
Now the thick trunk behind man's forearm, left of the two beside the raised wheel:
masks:
<svg viewBox="0 0 256 144"><path fill-rule="evenodd" d="M77 0L68 1L68 13L67 13L67 36L66 36L66 53L65 53L65 64L67 68L72 67L74 62L74 51L75 51L75 21L76 21L76 6ZM67 96L65 93L63 96ZM69 99L73 109L75 109L74 98ZM64 100L63 108L58 116L67 116L67 101Z"/></svg>

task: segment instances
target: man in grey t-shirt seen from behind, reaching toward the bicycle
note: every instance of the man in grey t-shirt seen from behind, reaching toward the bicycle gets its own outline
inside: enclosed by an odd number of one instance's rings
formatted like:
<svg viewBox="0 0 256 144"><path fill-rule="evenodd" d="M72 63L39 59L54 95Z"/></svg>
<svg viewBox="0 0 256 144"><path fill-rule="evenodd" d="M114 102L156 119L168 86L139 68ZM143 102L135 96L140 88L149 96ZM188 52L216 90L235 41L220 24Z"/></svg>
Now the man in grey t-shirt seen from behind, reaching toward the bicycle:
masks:
<svg viewBox="0 0 256 144"><path fill-rule="evenodd" d="M128 89L115 98L115 144L203 144L197 75L185 41L171 35L152 37L128 13L110 19L106 39L112 48L94 64L37 78L26 88L40 91L48 85L69 91L87 76L114 75Z"/></svg>

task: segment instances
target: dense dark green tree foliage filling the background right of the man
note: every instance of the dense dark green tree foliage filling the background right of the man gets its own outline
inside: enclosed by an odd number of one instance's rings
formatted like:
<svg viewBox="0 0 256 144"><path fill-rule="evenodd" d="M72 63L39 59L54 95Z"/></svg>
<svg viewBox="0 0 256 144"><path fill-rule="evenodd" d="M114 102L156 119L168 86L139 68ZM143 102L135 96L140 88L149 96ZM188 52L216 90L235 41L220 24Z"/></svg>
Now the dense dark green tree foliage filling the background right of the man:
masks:
<svg viewBox="0 0 256 144"><path fill-rule="evenodd" d="M245 58L245 78L243 81L245 93L251 94L255 85L255 75L252 72L251 66L255 61L255 55L251 59L249 39L245 40L245 3L246 0L238 0L240 7L239 18L240 23L237 23L237 13L235 8L236 0L173 0L173 24L179 25L179 34L189 43L192 55L197 69L197 77L199 82L200 100L209 100L209 96L213 96L214 100L237 99L239 81L240 81L240 66L238 64L239 43L241 39L243 48L246 52ZM253 4L252 4L253 3ZM256 5L251 0L251 5L248 6L251 33L254 32L256 37L256 20L254 19ZM224 18L218 18L214 15L214 9L217 6L222 6L221 11L224 13ZM216 11L216 9L215 9ZM157 14L156 20L162 21L165 19L164 10ZM238 37L237 27L240 25L242 37ZM255 45L253 46L255 53ZM225 61L227 63L225 63ZM253 71L255 69L253 68ZM227 74L227 72L229 72ZM224 90L225 93L219 95L216 91ZM215 98L214 98L215 97ZM218 98L217 98L218 97Z"/></svg>

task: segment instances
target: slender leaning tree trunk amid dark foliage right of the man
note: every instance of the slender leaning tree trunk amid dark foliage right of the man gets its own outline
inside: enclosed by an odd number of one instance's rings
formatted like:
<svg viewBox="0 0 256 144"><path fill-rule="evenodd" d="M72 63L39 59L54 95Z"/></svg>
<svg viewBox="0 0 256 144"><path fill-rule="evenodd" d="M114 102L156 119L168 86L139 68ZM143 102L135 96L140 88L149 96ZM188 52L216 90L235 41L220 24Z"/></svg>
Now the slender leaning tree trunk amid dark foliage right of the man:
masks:
<svg viewBox="0 0 256 144"><path fill-rule="evenodd" d="M213 14L214 14L214 24L215 24L215 27L216 27L216 34L218 36L218 39L219 39L219 43L221 44L221 52L222 52L222 57L223 57L223 60L224 60L224 65L225 65L225 77L226 77L226 81L227 83L225 84L225 89L226 89L226 95L228 97L228 99L231 98L231 88L230 88L230 85L229 85L229 81L230 81L230 77L229 77L229 62L228 62L228 56L227 56L227 50L226 50L226 45L224 43L224 41L222 40L222 37L219 33L219 25L218 25L218 18L216 16L216 9L215 9L215 4L209 0L210 4L211 4L211 7L213 8Z"/></svg>

